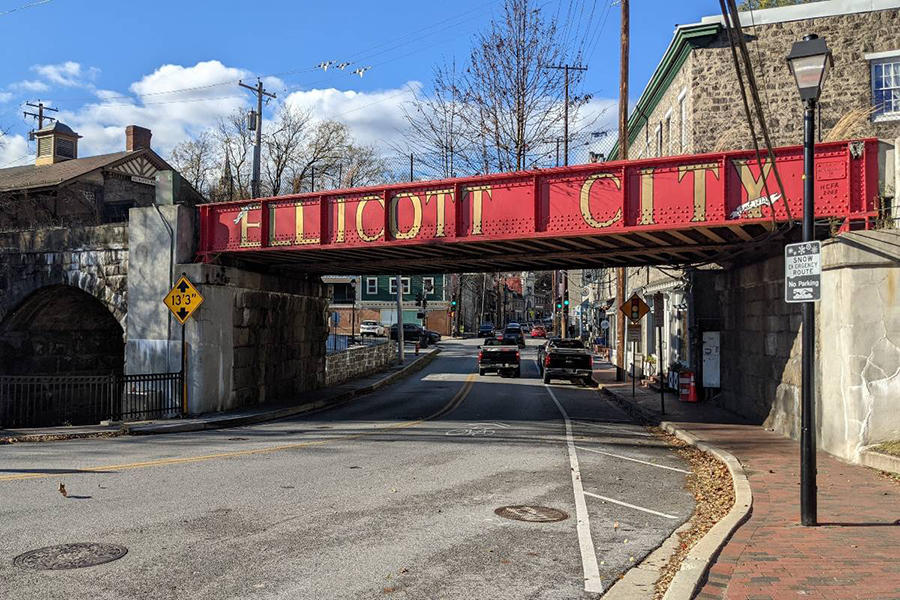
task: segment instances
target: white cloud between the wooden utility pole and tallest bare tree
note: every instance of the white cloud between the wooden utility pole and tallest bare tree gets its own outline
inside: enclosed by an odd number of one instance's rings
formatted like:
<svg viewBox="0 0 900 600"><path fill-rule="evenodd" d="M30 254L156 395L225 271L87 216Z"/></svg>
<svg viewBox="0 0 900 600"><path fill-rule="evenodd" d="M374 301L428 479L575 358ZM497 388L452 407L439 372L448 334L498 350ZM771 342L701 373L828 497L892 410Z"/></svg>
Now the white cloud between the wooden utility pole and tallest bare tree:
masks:
<svg viewBox="0 0 900 600"><path fill-rule="evenodd" d="M290 94L285 102L311 110L316 118L345 123L357 141L387 150L389 144L403 140L407 123L401 106L421 88L418 81L410 81L396 89L375 92L307 90Z"/></svg>

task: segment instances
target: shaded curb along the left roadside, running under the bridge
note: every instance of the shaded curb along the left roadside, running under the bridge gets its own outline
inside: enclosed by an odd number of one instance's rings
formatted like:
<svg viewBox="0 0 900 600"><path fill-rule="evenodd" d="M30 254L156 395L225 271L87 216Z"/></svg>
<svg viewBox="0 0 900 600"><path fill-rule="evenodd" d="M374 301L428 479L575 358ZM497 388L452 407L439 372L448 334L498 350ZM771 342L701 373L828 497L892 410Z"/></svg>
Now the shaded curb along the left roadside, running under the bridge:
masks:
<svg viewBox="0 0 900 600"><path fill-rule="evenodd" d="M137 425L133 427L129 427L126 425L123 427L123 429L129 435L158 435L165 433L188 433L192 431L207 431L211 429L227 429L229 427L241 427L245 425L264 423L266 421L277 421L278 419L293 417L296 415L321 410L323 408L337 406L338 404L344 404L345 402L349 402L350 400L353 400L354 398L357 398L359 396L370 394L375 390L381 389L387 385L394 383L395 381L412 375L416 371L424 369L431 363L431 361L433 361L437 357L438 354L440 354L440 352L440 348L435 348L415 362L410 363L402 369L394 371L393 373L390 373L369 385L357 388L355 390L336 394L334 396L331 396L330 398L323 398L322 400L318 400L316 402L310 402L308 404L289 406L287 408L281 408L278 410L268 411L255 415L241 415L238 417L214 419L206 422L176 422L172 423L171 425L165 423L161 425Z"/></svg>

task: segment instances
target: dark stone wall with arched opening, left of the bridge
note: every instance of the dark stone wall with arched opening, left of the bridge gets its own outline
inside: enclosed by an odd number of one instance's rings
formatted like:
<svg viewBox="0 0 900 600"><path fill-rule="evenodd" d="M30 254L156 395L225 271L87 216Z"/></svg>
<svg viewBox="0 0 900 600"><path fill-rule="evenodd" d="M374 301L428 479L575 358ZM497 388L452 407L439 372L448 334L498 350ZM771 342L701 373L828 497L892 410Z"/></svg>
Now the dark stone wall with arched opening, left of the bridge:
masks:
<svg viewBox="0 0 900 600"><path fill-rule="evenodd" d="M0 375L121 374L122 224L0 233Z"/></svg>

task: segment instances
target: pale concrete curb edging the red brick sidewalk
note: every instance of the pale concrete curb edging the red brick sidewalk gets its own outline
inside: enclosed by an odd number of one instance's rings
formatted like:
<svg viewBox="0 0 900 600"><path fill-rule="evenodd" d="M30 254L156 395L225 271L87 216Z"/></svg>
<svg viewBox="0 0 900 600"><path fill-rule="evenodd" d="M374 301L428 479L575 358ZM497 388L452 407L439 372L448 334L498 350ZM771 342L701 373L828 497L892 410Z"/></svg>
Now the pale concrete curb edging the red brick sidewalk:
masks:
<svg viewBox="0 0 900 600"><path fill-rule="evenodd" d="M747 479L747 475L744 473L744 468L741 466L740 461L738 461L731 453L700 440L696 435L689 430L680 427L677 423L660 421L658 415L629 402L616 392L608 389L602 383L600 384L600 390L605 395L612 398L618 405L623 407L626 412L635 415L644 421L658 423L662 429L668 431L678 439L687 442L691 446L695 446L699 450L712 454L725 463L725 466L728 468L732 484L734 485L734 505L731 507L731 510L728 511L728 514L725 515L721 521L713 525L712 529L706 532L706 535L704 535L691 549L681 563L681 567L679 567L675 577L672 579L671 583L669 583L669 588L663 596L663 600L690 600L700 589L701 583L703 582L709 567L716 557L718 557L719 552L725 544L728 543L728 540L731 539L731 536L737 528L750 518L750 513L753 510L753 492L750 489L750 481ZM689 523L690 520L684 526L687 526ZM677 540L677 534L680 530L681 528L675 530L675 532L663 542L662 546L644 559L637 568L643 567L645 563L650 563L648 565L648 570L652 569L654 572L658 573L657 565L661 566L665 563L664 561L659 561L659 559L663 557L657 556L657 553L662 553L664 552L664 549L668 549L664 556L665 560L668 560L668 557L675 551L675 545L670 545L669 542L673 539ZM629 573L634 570L635 569L631 569ZM626 589L623 589L622 592L623 594L631 593L633 595L623 595L622 597L642 597L638 595L639 593L644 593L645 595L643 597L647 597L644 583L647 577L648 574L644 574L640 578L632 578L632 581L629 582L629 586L627 586ZM625 578L613 589L616 589L626 582L628 582L628 574L626 574Z"/></svg>

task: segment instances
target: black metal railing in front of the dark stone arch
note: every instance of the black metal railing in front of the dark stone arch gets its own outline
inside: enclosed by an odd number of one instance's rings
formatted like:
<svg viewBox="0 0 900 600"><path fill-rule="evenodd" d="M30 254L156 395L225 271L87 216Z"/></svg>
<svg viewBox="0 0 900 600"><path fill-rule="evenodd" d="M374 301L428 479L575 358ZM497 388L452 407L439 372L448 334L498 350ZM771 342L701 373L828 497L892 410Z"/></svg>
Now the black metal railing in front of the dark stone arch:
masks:
<svg viewBox="0 0 900 600"><path fill-rule="evenodd" d="M176 417L181 373L0 375L0 427L88 425Z"/></svg>

